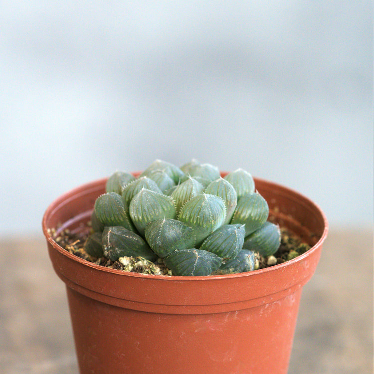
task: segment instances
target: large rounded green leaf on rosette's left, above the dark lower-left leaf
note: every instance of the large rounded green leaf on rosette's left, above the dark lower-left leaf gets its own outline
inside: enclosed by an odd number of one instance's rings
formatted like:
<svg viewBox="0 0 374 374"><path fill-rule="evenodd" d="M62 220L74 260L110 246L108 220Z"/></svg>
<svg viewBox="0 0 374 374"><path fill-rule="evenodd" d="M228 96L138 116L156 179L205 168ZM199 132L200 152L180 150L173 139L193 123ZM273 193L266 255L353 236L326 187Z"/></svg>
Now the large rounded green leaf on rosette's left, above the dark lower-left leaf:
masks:
<svg viewBox="0 0 374 374"><path fill-rule="evenodd" d="M107 192L100 195L95 201L95 215L104 226L124 226L135 230L130 219L129 209L116 192Z"/></svg>

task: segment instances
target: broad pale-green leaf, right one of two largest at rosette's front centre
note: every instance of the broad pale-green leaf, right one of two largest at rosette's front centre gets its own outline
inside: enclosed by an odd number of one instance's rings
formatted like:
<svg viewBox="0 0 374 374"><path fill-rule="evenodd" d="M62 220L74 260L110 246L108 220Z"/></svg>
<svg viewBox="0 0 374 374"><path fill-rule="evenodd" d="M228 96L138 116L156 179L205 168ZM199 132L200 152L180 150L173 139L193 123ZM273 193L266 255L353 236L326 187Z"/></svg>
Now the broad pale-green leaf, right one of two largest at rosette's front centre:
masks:
<svg viewBox="0 0 374 374"><path fill-rule="evenodd" d="M200 193L183 205L178 219L192 227L199 245L223 224L225 217L226 207L220 197Z"/></svg>

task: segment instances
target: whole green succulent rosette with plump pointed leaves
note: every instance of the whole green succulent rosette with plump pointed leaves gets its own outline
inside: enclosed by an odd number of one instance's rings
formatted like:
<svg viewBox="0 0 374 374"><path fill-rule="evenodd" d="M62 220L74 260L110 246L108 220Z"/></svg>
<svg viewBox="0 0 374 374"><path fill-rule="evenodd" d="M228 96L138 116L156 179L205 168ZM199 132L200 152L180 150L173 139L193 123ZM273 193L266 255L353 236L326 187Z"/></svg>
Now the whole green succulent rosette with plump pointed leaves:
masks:
<svg viewBox="0 0 374 374"><path fill-rule="evenodd" d="M138 178L116 172L91 216L85 243L92 257L164 261L174 275L251 271L256 253L274 254L279 227L252 176L191 160L182 167L156 160ZM160 260L161 259L161 260Z"/></svg>

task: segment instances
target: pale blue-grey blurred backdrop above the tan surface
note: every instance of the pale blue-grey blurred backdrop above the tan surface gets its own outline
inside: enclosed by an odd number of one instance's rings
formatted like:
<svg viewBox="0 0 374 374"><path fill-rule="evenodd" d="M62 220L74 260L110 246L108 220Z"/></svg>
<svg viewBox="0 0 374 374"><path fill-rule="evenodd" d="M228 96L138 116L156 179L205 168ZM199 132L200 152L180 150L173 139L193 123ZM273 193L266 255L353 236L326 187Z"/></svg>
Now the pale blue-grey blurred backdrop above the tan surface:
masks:
<svg viewBox="0 0 374 374"><path fill-rule="evenodd" d="M0 235L159 158L373 222L372 1L0 1Z"/></svg>

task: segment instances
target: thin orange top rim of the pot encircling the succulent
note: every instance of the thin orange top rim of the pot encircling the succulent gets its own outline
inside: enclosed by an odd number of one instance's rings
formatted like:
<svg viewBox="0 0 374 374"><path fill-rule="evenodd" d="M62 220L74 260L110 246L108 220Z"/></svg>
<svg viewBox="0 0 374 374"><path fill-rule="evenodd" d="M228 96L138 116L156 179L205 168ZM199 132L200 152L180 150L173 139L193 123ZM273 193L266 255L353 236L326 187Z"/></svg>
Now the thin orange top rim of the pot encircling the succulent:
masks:
<svg viewBox="0 0 374 374"><path fill-rule="evenodd" d="M139 172L132 173L132 174L138 175ZM221 175L225 175L225 174L227 174L227 172L221 172ZM254 178L255 183L266 183L269 186L280 187L284 191L288 191L289 193L297 196L299 199L304 200L305 202L309 203L311 206L314 207L314 209L318 212L318 214L320 214L320 216L322 217L323 222L324 222L324 229L323 229L323 232L322 232L320 238L318 239L318 241L308 251L306 251L305 253L293 258L292 260L285 261L281 264L273 265L273 266L270 266L270 267L267 267L267 268L264 268L264 269L257 269L257 270L252 270L252 271L248 271L248 272L234 273L234 274L204 275L204 276L154 275L154 274L142 274L142 273L127 272L127 271L123 271L123 270L111 269L111 268L108 268L108 267L105 267L105 266L97 265L97 264L92 263L90 261L87 261L83 258L80 258L80 257L78 257L78 256L76 256L72 253L69 253L67 250L62 248L52 238L50 232L48 232L48 229L50 229L52 227L47 227L47 221L48 221L49 216L51 216L56 210L58 210L59 206L62 203L66 203L67 198L71 199L73 193L74 193L74 196L76 196L81 191L85 191L85 193L87 193L89 191L88 188L90 188L92 190L98 189L97 187L93 187L93 184L95 184L95 186L96 186L96 184L105 183L107 181L107 179L108 178L102 178L102 179L99 179L99 180L91 181L89 183L80 185L78 187L75 187L75 188L72 188L72 189L66 191L65 193L63 193L62 195L60 195L59 197L54 199L52 201L52 203L50 203L48 205L47 209L45 210L45 212L43 214L43 218L42 218L42 229L43 229L44 236L46 237L47 241L53 246L54 249L56 249L58 252L60 252L61 254L70 258L73 261L76 261L76 262L78 262L82 265L85 265L85 266L91 267L95 270L103 271L103 272L106 272L106 273L113 273L113 274L116 274L116 275L128 276L128 277L134 277L134 278L150 278L150 279L155 279L155 280L159 279L159 280L163 280L163 281L167 281L167 282L181 281L181 280L187 281L187 282L198 282L198 281L202 281L202 280L204 280L204 281L214 281L214 280L219 280L219 279L232 279L232 278L256 276L256 275L259 275L259 274L265 274L265 273L271 273L271 272L274 272L274 271L280 271L283 268L287 268L289 266L292 266L293 264L296 264L298 262L303 261L303 259L310 256L313 252L318 250L318 248L320 246L322 246L322 243L326 239L326 236L327 236L328 230L329 230L329 225L328 225L328 221L327 221L327 217L326 217L325 213L322 211L320 206L318 204L316 204L314 201L312 201L310 198L308 198L307 196L303 195L302 193L300 193L298 191L293 190L292 188L285 187L283 185L280 185L280 184L277 184L277 183L274 183L274 182L271 182L271 181L267 181L267 180L264 180L264 179ZM83 213L81 213L81 214L84 215ZM79 216L79 214L76 215L74 218L77 218L78 216ZM66 222L68 222L68 221L66 221Z"/></svg>

